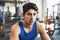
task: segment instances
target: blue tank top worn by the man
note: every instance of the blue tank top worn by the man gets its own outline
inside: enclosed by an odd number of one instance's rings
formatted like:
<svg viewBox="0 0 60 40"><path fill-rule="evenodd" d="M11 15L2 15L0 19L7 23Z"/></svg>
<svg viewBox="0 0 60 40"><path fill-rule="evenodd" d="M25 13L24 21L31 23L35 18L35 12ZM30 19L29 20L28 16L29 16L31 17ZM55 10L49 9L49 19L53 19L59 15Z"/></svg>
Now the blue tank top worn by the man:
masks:
<svg viewBox="0 0 60 40"><path fill-rule="evenodd" d="M21 33L19 35L19 39L20 40L36 40L36 36L37 36L37 31L36 31L36 21L33 24L33 28L32 31L29 33L26 33L24 28L23 28L23 24L22 21L19 21L19 26L20 26L20 30Z"/></svg>

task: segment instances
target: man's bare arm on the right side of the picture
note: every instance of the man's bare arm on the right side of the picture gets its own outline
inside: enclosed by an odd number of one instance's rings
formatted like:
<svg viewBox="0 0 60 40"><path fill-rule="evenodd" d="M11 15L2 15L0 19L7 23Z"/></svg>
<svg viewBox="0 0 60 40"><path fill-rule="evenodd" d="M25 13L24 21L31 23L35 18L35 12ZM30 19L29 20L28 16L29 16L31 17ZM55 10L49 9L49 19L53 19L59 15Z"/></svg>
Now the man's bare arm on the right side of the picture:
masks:
<svg viewBox="0 0 60 40"><path fill-rule="evenodd" d="M37 23L37 31L39 32L42 40L51 40L40 23Z"/></svg>

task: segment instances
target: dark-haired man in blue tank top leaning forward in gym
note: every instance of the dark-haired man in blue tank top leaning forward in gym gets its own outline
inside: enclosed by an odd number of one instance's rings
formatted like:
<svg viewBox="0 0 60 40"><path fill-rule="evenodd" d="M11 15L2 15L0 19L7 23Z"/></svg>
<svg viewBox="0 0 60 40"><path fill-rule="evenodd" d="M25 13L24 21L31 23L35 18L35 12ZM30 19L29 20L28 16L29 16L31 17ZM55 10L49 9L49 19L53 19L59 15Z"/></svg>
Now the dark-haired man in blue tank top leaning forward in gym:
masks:
<svg viewBox="0 0 60 40"><path fill-rule="evenodd" d="M38 33L42 40L50 40L42 25L36 22L37 13L36 4L26 3L23 5L24 20L12 26L10 40L35 40Z"/></svg>

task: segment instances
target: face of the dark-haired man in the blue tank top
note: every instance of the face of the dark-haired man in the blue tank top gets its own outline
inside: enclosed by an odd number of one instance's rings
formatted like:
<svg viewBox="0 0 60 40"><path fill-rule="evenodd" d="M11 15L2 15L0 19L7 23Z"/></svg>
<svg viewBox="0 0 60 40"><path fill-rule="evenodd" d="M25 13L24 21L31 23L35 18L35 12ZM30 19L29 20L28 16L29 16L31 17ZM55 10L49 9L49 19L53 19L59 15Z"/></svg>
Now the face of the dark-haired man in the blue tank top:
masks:
<svg viewBox="0 0 60 40"><path fill-rule="evenodd" d="M37 11L34 9L28 10L24 15L24 20L27 24L31 25L36 20Z"/></svg>

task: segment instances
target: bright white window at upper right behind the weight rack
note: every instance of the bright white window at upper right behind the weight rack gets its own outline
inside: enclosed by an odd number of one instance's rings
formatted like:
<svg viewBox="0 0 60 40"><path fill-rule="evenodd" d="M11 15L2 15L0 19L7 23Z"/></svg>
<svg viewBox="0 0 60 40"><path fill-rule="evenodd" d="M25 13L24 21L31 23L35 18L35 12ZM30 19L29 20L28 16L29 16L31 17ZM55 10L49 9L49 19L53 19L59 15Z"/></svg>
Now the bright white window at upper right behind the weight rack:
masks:
<svg viewBox="0 0 60 40"><path fill-rule="evenodd" d="M50 15L53 16L53 5L56 5L58 3L59 3L59 0L47 0L46 4L47 4L47 8L48 8L48 17ZM54 7L54 11L55 12L57 11L56 6ZM56 13L54 15L56 15Z"/></svg>

